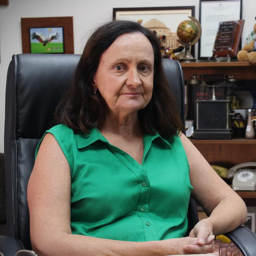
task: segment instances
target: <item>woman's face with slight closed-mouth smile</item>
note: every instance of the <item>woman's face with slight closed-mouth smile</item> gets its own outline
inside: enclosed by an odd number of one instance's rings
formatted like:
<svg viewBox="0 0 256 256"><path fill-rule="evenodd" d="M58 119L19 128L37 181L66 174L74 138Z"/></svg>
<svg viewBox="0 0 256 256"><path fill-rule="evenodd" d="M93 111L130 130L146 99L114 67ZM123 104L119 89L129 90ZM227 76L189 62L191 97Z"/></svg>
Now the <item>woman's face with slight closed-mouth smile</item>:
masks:
<svg viewBox="0 0 256 256"><path fill-rule="evenodd" d="M108 108L114 114L134 113L152 97L154 52L142 33L119 36L103 52L93 77Z"/></svg>

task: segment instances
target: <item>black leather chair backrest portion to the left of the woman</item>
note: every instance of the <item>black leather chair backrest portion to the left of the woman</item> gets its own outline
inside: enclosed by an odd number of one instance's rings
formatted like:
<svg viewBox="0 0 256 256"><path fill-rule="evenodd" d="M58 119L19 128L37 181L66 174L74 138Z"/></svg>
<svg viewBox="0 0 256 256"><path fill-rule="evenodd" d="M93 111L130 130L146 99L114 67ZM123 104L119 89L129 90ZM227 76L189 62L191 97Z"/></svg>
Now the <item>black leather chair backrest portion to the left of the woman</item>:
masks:
<svg viewBox="0 0 256 256"><path fill-rule="evenodd" d="M13 56L6 83L5 172L7 229L30 248L27 184L35 148L55 124L54 109L70 86L80 56L20 54Z"/></svg>

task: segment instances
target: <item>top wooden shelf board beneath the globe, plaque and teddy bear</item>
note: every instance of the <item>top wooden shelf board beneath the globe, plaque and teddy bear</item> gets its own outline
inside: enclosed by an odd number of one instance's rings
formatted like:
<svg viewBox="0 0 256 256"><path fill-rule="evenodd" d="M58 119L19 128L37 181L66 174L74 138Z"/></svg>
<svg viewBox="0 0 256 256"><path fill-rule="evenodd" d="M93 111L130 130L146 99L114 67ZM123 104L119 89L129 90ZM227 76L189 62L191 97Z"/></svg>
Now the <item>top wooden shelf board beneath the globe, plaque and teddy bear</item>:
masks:
<svg viewBox="0 0 256 256"><path fill-rule="evenodd" d="M195 74L226 74L237 80L256 80L256 65L249 61L181 63L185 80Z"/></svg>

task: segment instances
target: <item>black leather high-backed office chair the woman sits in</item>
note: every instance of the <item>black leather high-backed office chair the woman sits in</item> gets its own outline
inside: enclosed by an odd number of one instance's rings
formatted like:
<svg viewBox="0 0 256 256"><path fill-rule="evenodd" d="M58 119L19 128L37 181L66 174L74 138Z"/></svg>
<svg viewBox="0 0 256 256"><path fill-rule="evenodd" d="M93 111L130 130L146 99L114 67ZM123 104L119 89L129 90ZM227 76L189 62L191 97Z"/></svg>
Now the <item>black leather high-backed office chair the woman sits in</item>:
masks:
<svg viewBox="0 0 256 256"><path fill-rule="evenodd" d="M74 54L19 54L13 56L9 65L4 135L9 236L0 236L0 251L5 256L31 249L26 190L35 148L45 130L56 124L54 109L70 86L79 58ZM180 64L169 59L163 61L184 122L184 78ZM189 232L198 222L192 199L187 216ZM248 228L239 227L227 236L245 256L256 256L256 235Z"/></svg>

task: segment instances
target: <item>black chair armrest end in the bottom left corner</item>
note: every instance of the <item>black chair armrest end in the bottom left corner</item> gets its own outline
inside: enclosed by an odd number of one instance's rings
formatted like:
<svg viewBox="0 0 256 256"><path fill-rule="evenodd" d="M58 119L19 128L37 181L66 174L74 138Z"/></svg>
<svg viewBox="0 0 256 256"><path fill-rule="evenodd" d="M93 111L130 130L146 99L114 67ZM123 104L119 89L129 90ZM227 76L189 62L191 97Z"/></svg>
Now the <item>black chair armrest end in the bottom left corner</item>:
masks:
<svg viewBox="0 0 256 256"><path fill-rule="evenodd" d="M18 250L25 249L20 240L12 236L0 236L0 252L4 256L14 256Z"/></svg>

